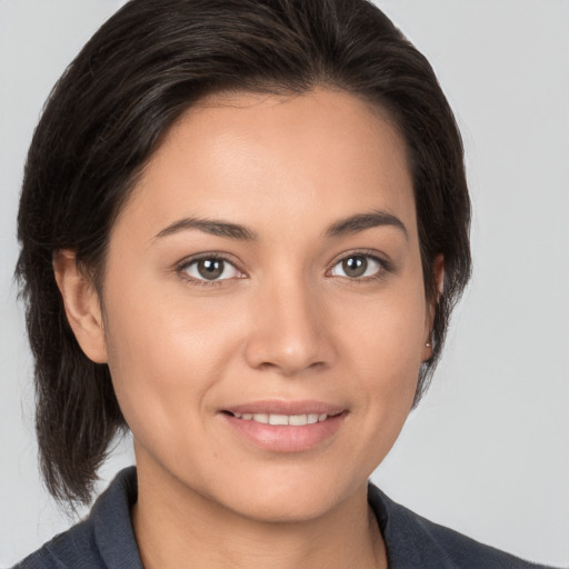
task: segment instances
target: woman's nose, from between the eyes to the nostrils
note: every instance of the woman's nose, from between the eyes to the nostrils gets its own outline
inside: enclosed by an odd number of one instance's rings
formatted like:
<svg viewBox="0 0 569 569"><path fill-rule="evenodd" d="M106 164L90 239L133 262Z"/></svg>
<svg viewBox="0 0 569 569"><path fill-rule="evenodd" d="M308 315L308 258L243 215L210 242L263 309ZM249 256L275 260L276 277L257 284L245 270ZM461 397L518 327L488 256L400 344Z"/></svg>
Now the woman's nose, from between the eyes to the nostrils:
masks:
<svg viewBox="0 0 569 569"><path fill-rule="evenodd" d="M246 346L250 367L296 376L333 363L336 347L321 291L302 278L287 279L268 283L252 302Z"/></svg>

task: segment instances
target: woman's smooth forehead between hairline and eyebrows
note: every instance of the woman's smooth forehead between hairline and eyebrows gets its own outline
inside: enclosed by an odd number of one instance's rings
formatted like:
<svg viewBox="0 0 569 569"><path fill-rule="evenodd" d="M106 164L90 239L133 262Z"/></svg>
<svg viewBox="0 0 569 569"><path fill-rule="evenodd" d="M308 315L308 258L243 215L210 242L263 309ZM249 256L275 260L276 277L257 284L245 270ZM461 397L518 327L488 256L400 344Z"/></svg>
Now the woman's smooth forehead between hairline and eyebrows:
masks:
<svg viewBox="0 0 569 569"><path fill-rule="evenodd" d="M388 114L338 91L221 93L170 129L126 217L160 230L173 217L288 229L381 209L415 228L406 143ZM259 227L262 232L262 227Z"/></svg>

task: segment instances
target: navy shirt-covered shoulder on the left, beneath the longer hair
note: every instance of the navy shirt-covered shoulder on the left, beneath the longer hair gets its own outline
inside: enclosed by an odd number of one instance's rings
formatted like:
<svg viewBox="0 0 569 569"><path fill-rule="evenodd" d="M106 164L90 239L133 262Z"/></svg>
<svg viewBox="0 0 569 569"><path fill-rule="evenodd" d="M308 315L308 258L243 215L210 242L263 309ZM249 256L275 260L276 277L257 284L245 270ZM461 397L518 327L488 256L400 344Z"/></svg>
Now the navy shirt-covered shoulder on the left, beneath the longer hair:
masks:
<svg viewBox="0 0 569 569"><path fill-rule="evenodd" d="M56 536L12 569L142 569L130 508L137 500L134 468L122 470L89 517Z"/></svg>

